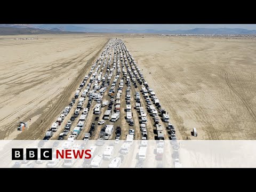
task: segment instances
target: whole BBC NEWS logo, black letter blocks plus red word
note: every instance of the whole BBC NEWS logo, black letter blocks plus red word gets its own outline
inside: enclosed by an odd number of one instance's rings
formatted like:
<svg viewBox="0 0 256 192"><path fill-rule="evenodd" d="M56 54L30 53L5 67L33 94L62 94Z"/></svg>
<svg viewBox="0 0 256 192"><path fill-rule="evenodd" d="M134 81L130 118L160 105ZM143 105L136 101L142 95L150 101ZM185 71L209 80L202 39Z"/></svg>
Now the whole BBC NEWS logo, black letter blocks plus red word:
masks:
<svg viewBox="0 0 256 192"><path fill-rule="evenodd" d="M24 153L22 148L12 149L12 160L23 160ZM71 158L85 158L90 159L92 157L91 150L75 150L75 149L62 149L56 150L57 159L71 159ZM40 149L40 159L41 160L52 160L52 149L51 148L41 148ZM37 148L27 148L26 149L26 160L38 160L38 149Z"/></svg>

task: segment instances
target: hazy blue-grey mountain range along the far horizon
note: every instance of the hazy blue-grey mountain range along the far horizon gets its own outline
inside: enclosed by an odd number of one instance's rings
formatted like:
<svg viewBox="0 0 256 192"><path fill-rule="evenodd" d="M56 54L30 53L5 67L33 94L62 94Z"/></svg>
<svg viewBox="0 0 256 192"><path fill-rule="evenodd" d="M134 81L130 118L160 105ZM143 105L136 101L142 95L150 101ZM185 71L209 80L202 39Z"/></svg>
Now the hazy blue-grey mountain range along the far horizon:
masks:
<svg viewBox="0 0 256 192"><path fill-rule="evenodd" d="M7 29L4 29L7 28ZM15 34L51 34L51 33L133 33L133 34L219 34L219 35L252 35L256 34L256 30L248 30L241 28L195 28L189 30L136 30L136 29L107 29L107 28L94 28L83 27L74 25L62 24L43 24L32 25L29 24L0 24L0 35ZM13 30L11 30L13 29ZM20 29L20 30L18 30ZM24 29L24 30L21 30ZM10 34L8 34L10 33Z"/></svg>

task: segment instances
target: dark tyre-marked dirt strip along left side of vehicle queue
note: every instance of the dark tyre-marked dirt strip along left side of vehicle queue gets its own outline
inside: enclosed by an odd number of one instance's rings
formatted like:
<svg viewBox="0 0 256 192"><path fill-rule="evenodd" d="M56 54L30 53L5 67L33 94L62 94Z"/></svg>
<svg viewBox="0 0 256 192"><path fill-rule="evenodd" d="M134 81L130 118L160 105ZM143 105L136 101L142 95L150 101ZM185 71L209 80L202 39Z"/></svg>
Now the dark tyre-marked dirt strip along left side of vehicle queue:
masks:
<svg viewBox="0 0 256 192"><path fill-rule="evenodd" d="M102 45L104 48L108 43L108 39L105 44ZM90 64L95 60L95 58L98 57L99 53L101 52L102 49L99 49L97 53L94 54L94 56L89 59L84 67L80 70L80 73L78 74L75 82L71 83L69 86L66 87L65 90L63 90L63 93L70 93L75 91L77 88L78 84L82 81L82 79L85 76L86 70L88 67L90 67ZM91 50L91 53L93 53L95 50ZM90 53L90 54L91 54ZM82 57L81 55L80 57ZM82 57L79 62L82 62L85 57ZM77 58L76 58L77 59ZM18 135L17 138L15 139L33 139L33 138L41 138L42 135L44 134L43 130L46 129L46 127L50 126L50 124L54 121L54 118L58 116L60 109L62 109L67 103L69 102L69 99L72 98L71 94L63 94L56 105L52 107L50 110L45 111L41 115L41 119L47 119L47 121L39 124L39 126L36 127L36 125L33 123L30 125L29 129L25 130L21 134ZM38 125L38 124L37 124ZM41 133L39 133L41 131Z"/></svg>

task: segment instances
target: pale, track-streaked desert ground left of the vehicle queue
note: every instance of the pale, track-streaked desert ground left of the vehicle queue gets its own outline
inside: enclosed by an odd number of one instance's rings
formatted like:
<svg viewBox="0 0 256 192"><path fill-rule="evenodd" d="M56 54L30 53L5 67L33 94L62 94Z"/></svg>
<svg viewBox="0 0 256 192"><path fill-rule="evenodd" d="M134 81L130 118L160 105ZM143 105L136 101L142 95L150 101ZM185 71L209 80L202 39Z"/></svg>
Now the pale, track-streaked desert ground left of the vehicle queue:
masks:
<svg viewBox="0 0 256 192"><path fill-rule="evenodd" d="M108 39L93 34L0 36L0 139L45 134ZM19 118L29 124L26 134L18 135Z"/></svg>

